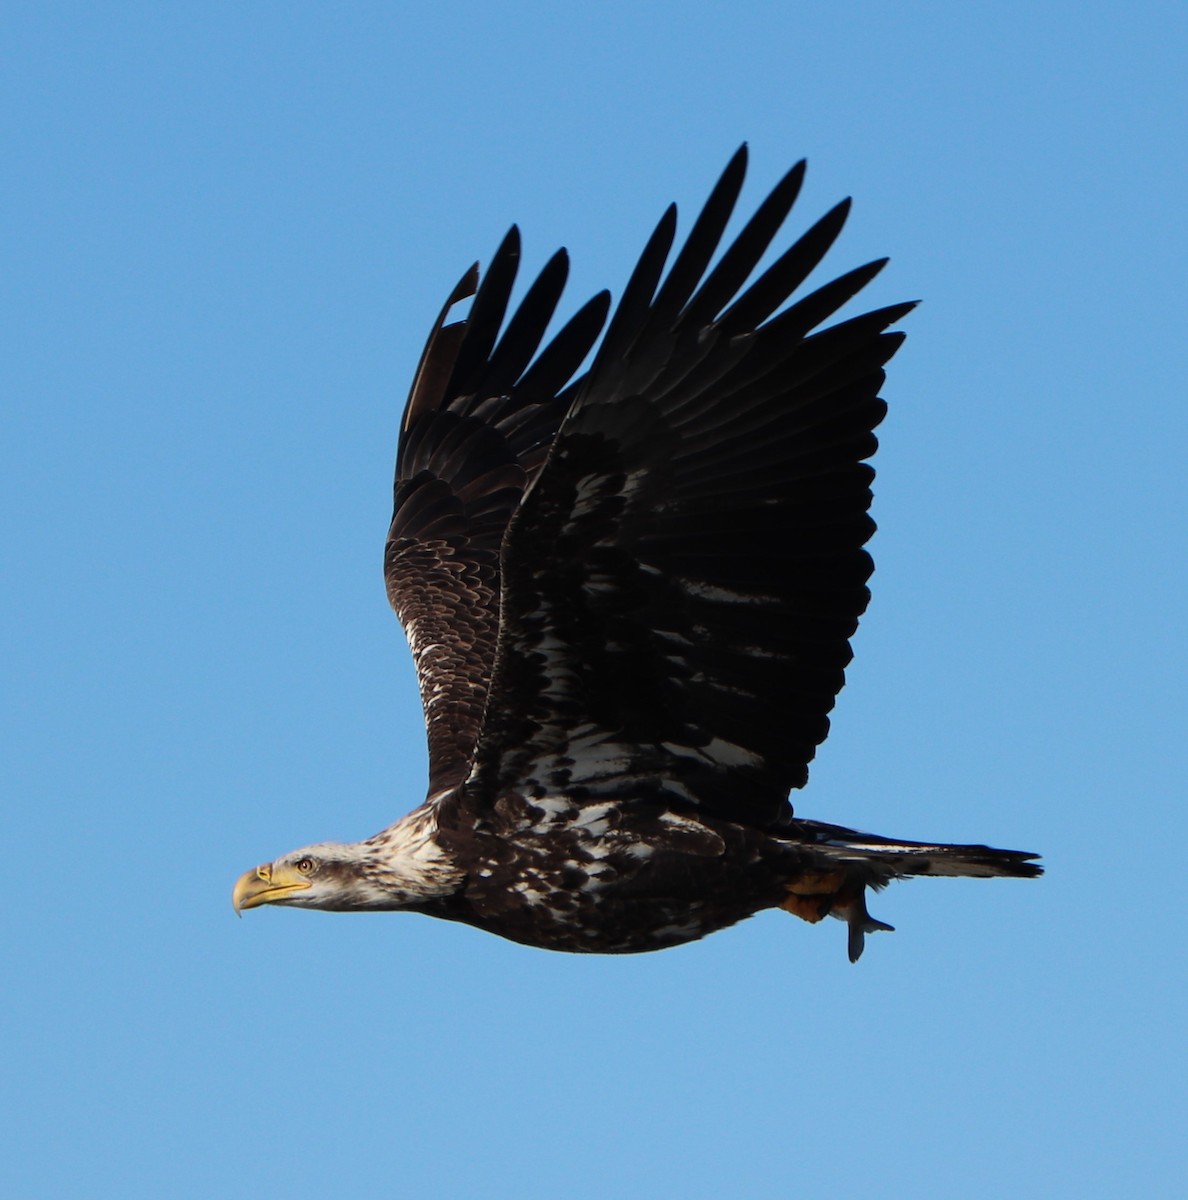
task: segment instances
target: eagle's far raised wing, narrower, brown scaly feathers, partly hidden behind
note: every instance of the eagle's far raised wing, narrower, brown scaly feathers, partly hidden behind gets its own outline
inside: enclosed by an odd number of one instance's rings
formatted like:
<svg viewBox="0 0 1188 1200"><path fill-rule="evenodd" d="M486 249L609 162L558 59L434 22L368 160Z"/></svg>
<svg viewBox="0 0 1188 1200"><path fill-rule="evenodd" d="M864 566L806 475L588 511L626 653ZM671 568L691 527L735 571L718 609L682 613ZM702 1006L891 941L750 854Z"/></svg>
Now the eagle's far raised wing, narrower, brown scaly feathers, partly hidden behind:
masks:
<svg viewBox="0 0 1188 1200"><path fill-rule="evenodd" d="M512 228L481 286L475 265L450 293L421 355L396 452L384 577L416 665L430 794L470 769L494 664L499 546L608 308L605 294L595 296L536 353L569 274L558 251L499 337L518 260ZM470 296L468 316L448 323Z"/></svg>

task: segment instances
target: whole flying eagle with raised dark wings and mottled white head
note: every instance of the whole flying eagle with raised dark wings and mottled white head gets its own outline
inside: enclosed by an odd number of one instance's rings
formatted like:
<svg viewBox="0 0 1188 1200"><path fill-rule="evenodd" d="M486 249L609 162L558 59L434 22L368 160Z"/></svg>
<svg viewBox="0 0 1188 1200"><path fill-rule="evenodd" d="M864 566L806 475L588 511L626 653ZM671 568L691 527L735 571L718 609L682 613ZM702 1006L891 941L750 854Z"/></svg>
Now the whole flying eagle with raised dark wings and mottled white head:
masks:
<svg viewBox="0 0 1188 1200"><path fill-rule="evenodd" d="M564 250L508 317L516 227L450 292L384 551L427 798L373 838L253 868L236 912L407 910L622 954L782 908L844 920L856 961L892 928L868 888L1040 874L1036 854L859 833L788 800L870 596L878 392L913 307L829 324L887 259L793 299L850 208L772 257L804 170L719 253L742 146L674 254L668 206L608 323L604 292L546 341Z"/></svg>

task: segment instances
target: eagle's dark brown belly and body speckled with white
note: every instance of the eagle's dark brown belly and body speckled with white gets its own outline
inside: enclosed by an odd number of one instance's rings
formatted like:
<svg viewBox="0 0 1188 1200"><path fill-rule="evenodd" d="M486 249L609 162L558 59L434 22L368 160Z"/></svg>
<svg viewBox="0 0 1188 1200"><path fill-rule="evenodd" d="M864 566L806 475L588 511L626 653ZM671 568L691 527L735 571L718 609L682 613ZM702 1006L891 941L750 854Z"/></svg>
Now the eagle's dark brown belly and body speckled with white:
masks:
<svg viewBox="0 0 1188 1200"><path fill-rule="evenodd" d="M503 806L521 810L514 830L442 834L467 881L426 911L541 949L697 941L781 904L798 875L787 841L745 826L551 797Z"/></svg>

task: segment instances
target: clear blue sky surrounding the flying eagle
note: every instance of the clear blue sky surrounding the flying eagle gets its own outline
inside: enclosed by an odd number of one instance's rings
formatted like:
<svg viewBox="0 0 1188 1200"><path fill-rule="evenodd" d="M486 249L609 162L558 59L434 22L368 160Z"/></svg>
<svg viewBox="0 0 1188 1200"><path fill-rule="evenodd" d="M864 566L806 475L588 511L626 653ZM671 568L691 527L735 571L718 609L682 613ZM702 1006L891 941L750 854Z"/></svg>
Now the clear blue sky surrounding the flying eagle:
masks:
<svg viewBox="0 0 1188 1200"><path fill-rule="evenodd" d="M1182 4L10 4L0 1192L1186 1194ZM634 959L264 910L424 793L379 564L445 292L748 139L923 298L804 815L1044 852Z"/></svg>

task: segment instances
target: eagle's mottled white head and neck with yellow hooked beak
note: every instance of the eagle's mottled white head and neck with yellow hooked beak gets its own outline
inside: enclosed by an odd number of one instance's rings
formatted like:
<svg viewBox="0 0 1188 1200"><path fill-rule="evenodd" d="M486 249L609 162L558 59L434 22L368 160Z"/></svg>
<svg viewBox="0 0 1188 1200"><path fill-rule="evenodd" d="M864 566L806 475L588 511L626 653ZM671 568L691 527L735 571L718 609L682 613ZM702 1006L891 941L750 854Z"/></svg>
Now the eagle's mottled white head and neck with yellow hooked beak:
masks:
<svg viewBox="0 0 1188 1200"><path fill-rule="evenodd" d="M461 872L437 844L432 814L419 809L366 841L324 841L245 871L236 912L260 905L360 912L406 908L455 890Z"/></svg>

